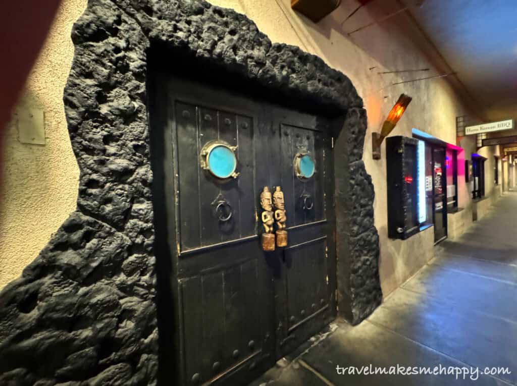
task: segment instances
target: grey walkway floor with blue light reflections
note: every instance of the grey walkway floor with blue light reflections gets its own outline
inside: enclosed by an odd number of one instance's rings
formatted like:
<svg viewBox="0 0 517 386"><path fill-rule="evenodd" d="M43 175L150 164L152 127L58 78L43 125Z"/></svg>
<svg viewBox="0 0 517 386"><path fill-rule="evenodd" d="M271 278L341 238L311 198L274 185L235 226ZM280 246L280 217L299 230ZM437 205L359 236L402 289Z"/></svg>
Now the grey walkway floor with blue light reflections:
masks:
<svg viewBox="0 0 517 386"><path fill-rule="evenodd" d="M517 192L509 192L461 239L440 243L436 257L367 320L356 327L333 323L252 385L517 385L516 230ZM370 364L469 369L458 380L336 369ZM485 367L508 367L511 374L481 375Z"/></svg>

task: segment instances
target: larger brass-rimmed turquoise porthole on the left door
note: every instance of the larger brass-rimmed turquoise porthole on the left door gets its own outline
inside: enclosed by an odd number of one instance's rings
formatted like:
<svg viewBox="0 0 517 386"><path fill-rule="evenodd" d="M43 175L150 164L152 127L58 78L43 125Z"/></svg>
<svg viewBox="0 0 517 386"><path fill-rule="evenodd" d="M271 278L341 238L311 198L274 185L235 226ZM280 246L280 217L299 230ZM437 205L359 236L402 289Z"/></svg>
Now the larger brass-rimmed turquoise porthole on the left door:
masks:
<svg viewBox="0 0 517 386"><path fill-rule="evenodd" d="M237 178L237 146L231 146L224 141L211 141L201 150L201 167L208 170L217 178Z"/></svg>

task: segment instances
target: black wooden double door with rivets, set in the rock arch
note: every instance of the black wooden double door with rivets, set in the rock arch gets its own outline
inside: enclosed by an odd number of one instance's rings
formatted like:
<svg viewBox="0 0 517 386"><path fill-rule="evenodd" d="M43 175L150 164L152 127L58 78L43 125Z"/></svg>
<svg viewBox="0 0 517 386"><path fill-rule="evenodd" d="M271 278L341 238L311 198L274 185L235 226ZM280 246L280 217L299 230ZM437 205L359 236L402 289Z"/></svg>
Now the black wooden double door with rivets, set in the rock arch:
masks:
<svg viewBox="0 0 517 386"><path fill-rule="evenodd" d="M336 315L329 122L169 74L153 89L180 382L246 384ZM210 141L237 147L237 178L200 167ZM288 245L274 252L260 242L266 186L285 198Z"/></svg>

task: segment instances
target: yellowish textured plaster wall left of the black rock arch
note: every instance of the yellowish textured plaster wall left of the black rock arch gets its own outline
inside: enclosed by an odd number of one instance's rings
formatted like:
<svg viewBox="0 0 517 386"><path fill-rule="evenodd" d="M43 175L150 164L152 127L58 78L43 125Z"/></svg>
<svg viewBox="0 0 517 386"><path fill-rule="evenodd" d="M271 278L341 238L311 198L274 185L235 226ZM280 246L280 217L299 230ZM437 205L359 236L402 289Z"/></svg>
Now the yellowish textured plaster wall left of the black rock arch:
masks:
<svg viewBox="0 0 517 386"><path fill-rule="evenodd" d="M65 121L63 87L70 72L70 30L86 0L63 0L17 107L44 111L45 145L22 144L13 123L3 152L0 199L0 289L16 279L75 209L79 169Z"/></svg>

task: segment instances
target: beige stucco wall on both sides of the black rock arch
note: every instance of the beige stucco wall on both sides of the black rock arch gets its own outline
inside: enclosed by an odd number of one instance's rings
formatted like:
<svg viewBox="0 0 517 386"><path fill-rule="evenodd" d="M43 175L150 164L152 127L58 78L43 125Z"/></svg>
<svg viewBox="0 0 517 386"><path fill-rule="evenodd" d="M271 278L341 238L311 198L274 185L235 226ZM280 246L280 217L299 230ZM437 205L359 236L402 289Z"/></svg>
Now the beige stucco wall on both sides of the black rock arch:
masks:
<svg viewBox="0 0 517 386"><path fill-rule="evenodd" d="M63 2L47 45L28 81L29 95L35 97L35 102L42 105L47 114L47 145L22 145L16 140L16 131L9 131L5 158L7 194L2 202L0 225L0 287L21 273L75 206L78 169L66 131L62 92L72 59L70 28L85 3L86 0ZM368 111L364 162L375 186L381 282L384 295L388 295L433 257L433 228L407 241L388 239L384 145L382 160L372 160L371 133L380 130L388 111L405 92L413 101L391 135L411 136L412 128L417 128L455 143L455 117L468 113L461 99L445 79L392 85L440 71L420 52L419 45L399 30L397 18L348 36L345 31L367 24L375 17L372 7L361 9L342 28L341 21L355 4L343 2L340 9L314 24L293 12L290 0L211 0L211 3L247 14L273 42L298 45L322 57L349 76L356 86ZM377 2L376 6L384 5ZM378 74L418 68L431 68L431 71ZM465 151L465 157L470 158L469 151ZM464 178L459 181L460 206L468 208L470 200Z"/></svg>

